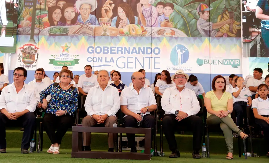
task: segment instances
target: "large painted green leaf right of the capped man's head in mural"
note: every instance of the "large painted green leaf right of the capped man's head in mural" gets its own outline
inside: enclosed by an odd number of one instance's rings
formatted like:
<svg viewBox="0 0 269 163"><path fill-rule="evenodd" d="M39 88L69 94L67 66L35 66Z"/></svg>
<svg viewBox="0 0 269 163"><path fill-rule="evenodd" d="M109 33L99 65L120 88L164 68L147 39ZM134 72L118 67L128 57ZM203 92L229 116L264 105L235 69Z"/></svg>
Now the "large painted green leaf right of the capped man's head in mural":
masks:
<svg viewBox="0 0 269 163"><path fill-rule="evenodd" d="M215 23L218 20L218 16L223 12L223 8L225 8L225 0L217 0L211 3L210 8L213 9L210 10L209 21Z"/></svg>

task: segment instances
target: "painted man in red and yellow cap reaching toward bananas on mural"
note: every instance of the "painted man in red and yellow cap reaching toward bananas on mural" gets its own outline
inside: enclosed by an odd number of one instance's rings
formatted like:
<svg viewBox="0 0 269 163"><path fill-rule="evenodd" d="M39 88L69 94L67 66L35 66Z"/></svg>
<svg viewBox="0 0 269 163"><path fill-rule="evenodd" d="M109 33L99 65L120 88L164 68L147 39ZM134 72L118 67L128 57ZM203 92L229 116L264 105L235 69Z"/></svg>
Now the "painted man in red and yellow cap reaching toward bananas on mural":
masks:
<svg viewBox="0 0 269 163"><path fill-rule="evenodd" d="M228 19L224 22L207 22L209 19L209 11L213 8L209 8L206 4L200 4L197 8L197 12L200 15L200 18L197 20L197 29L202 35L202 37L220 37L224 33L217 32L215 29L219 29L223 25L230 24L235 22L233 19Z"/></svg>

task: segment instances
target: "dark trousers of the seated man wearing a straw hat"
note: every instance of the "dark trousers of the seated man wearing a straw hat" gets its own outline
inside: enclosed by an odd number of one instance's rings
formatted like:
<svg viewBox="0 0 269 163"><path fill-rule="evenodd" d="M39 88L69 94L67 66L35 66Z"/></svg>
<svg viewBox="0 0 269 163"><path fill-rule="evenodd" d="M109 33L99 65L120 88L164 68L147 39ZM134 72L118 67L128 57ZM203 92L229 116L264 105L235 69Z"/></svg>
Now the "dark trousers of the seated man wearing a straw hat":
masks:
<svg viewBox="0 0 269 163"><path fill-rule="evenodd" d="M177 149L177 141L175 138L175 129L177 129L177 126L185 126L193 131L193 150L199 151L201 149L204 126L202 118L191 115L181 121L177 121L176 115L174 114L164 115L163 132L171 151Z"/></svg>

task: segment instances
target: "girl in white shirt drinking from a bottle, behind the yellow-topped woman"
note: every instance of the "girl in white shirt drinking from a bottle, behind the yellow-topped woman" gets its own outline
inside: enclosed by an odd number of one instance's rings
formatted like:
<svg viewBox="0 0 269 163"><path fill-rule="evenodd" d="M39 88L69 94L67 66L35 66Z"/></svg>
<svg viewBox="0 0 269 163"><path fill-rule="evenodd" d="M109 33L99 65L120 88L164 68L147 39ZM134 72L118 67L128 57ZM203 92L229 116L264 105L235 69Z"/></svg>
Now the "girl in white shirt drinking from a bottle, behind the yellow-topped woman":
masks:
<svg viewBox="0 0 269 163"><path fill-rule="evenodd" d="M232 88L233 110L236 115L236 125L243 127L244 113L247 112L247 106L251 105L251 93L244 87L244 78L235 79L235 88Z"/></svg>

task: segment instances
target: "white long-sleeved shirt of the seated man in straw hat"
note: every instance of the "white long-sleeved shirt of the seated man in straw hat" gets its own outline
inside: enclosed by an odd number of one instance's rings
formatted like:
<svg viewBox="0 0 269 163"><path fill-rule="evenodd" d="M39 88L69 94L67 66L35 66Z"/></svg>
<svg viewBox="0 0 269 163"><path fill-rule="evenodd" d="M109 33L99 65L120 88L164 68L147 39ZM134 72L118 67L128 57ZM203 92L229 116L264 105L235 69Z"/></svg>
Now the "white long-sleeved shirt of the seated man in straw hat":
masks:
<svg viewBox="0 0 269 163"><path fill-rule="evenodd" d="M175 114L179 110L187 113L189 117L200 111L200 104L194 91L186 87L181 92L176 86L167 88L163 93L161 105L165 114Z"/></svg>

